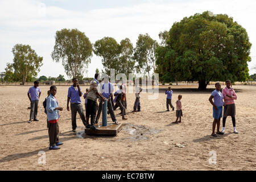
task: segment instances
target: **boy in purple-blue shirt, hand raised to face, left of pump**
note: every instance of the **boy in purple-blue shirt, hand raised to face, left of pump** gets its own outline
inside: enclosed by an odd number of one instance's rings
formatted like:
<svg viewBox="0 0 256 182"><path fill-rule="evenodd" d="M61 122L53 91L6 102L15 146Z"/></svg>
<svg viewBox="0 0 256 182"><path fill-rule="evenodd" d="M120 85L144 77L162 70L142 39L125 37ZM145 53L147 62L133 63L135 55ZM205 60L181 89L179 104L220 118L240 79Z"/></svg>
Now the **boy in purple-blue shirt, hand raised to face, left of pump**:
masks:
<svg viewBox="0 0 256 182"><path fill-rule="evenodd" d="M81 104L81 97L82 91L81 86L78 84L78 79L73 78L73 85L69 87L68 89L68 103L67 103L67 110L69 111L69 101L71 106L71 119L72 119L72 131L76 131L76 114L77 112L80 115L80 118L82 119L82 123L84 126L86 126L86 119L84 115L84 109L82 109Z"/></svg>

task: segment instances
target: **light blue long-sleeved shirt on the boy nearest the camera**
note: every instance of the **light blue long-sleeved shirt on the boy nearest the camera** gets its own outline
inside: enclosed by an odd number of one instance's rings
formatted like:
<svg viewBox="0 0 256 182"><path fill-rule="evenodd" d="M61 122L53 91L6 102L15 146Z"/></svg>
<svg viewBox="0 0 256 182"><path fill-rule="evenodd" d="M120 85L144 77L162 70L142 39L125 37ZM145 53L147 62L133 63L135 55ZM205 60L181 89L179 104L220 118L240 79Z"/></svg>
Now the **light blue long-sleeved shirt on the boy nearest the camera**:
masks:
<svg viewBox="0 0 256 182"><path fill-rule="evenodd" d="M49 123L57 123L59 121L59 110L55 110L55 107L59 107L58 101L56 97L50 94L46 101L47 120Z"/></svg>

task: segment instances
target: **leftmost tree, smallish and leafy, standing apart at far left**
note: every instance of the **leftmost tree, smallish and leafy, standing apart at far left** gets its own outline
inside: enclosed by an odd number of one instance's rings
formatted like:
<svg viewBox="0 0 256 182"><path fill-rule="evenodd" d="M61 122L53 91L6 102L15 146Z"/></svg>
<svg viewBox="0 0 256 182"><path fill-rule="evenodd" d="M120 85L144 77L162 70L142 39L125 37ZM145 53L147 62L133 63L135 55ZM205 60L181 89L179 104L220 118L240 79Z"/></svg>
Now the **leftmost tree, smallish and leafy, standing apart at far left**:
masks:
<svg viewBox="0 0 256 182"><path fill-rule="evenodd" d="M43 57L38 56L29 45L16 44L13 48L13 55L13 64L7 64L6 68L8 76L13 77L10 78L11 81L22 81L24 85L27 80L30 81L33 76L38 75L43 65ZM14 69L13 75L12 69Z"/></svg>

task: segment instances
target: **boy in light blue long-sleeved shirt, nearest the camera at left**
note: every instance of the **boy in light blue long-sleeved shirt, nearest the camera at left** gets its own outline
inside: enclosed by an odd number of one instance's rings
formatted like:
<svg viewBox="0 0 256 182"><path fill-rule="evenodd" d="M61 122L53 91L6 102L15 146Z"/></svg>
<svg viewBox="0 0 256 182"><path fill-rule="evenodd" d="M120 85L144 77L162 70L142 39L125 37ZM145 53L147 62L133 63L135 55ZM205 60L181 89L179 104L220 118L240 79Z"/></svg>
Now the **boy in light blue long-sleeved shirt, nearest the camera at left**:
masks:
<svg viewBox="0 0 256 182"><path fill-rule="evenodd" d="M49 122L49 150L57 150L60 149L61 142L59 142L59 125L58 121L60 118L59 110L62 111L63 107L59 107L58 101L56 100L57 88L52 85L50 88L50 95L47 98L47 119Z"/></svg>

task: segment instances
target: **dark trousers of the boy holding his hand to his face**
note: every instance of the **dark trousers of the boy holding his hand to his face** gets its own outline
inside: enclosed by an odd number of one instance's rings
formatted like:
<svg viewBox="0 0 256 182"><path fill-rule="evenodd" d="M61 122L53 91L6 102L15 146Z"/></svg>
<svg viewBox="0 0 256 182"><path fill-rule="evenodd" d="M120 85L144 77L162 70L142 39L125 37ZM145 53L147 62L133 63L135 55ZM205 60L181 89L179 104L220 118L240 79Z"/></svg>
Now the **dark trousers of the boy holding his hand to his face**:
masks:
<svg viewBox="0 0 256 182"><path fill-rule="evenodd" d="M72 129L76 130L76 113L79 113L82 123L86 126L86 119L84 115L84 109L82 109L81 104L71 104L71 120L72 120Z"/></svg>

